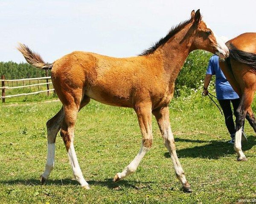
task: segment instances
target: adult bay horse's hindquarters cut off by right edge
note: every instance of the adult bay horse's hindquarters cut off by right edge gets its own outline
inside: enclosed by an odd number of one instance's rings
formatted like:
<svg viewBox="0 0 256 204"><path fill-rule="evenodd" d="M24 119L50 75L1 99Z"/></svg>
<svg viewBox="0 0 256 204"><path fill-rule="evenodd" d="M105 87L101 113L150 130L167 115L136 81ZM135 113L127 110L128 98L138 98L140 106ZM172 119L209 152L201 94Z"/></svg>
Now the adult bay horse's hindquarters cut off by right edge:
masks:
<svg viewBox="0 0 256 204"><path fill-rule="evenodd" d="M219 65L230 85L240 97L236 110L234 149L237 161L247 161L241 149L241 127L245 118L256 132L256 119L251 108L256 90L256 33L244 33L226 42L230 56Z"/></svg>

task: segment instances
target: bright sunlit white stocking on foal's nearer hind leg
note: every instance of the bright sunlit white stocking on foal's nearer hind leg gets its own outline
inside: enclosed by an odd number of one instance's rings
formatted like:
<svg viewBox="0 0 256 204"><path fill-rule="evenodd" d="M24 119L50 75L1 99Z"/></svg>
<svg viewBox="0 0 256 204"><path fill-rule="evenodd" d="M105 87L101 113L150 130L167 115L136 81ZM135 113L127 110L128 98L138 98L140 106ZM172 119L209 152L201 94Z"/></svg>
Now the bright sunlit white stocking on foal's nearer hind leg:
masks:
<svg viewBox="0 0 256 204"><path fill-rule="evenodd" d="M73 170L73 175L76 181L78 181L81 184L81 187L89 188L89 184L84 180L84 176L79 167L73 142L70 143L70 148L67 151L67 156L69 158L69 161Z"/></svg>

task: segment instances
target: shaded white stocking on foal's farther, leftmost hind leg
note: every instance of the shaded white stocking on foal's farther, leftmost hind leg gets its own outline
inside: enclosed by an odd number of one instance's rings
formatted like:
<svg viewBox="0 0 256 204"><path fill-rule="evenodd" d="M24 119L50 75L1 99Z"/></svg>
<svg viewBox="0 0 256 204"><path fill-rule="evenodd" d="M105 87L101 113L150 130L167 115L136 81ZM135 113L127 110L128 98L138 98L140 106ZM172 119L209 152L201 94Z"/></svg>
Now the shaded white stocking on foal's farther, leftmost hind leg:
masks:
<svg viewBox="0 0 256 204"><path fill-rule="evenodd" d="M45 179L48 179L50 173L52 172L52 169L54 167L54 158L55 158L55 143L47 144L47 161L45 165L45 170L42 176Z"/></svg>

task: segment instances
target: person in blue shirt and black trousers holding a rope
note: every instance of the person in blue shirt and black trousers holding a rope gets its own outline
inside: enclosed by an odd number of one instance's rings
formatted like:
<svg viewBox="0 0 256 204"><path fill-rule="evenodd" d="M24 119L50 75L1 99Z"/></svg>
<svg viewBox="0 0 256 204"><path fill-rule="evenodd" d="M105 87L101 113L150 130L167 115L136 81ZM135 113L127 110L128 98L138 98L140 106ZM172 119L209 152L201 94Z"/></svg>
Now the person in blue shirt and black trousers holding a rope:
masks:
<svg viewBox="0 0 256 204"><path fill-rule="evenodd" d="M236 127L233 121L233 112L231 109L231 104L233 105L233 110L235 113L236 109L239 106L240 99L239 96L231 87L230 83L227 81L223 72L221 71L221 68L219 67L218 64L218 60L219 57L217 55L213 55L209 60L206 76L204 78L204 95L208 94L207 88L212 79L212 75L215 75L216 96L224 113L227 130L230 133L231 140L229 141L229 143L233 144L236 134ZM243 137L246 138L243 130L244 128L242 127Z"/></svg>

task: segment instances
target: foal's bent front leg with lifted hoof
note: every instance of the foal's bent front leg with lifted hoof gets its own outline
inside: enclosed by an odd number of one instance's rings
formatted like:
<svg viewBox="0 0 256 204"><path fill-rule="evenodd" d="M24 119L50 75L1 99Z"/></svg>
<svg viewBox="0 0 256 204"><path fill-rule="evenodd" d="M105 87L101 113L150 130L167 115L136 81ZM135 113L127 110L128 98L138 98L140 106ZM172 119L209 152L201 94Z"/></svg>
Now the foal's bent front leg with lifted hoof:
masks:
<svg viewBox="0 0 256 204"><path fill-rule="evenodd" d="M134 160L125 167L125 169L121 173L117 173L113 181L120 181L124 179L126 176L134 173L137 170L140 161L143 159L145 153L151 148L152 141L153 141L153 134L152 134L152 125L151 125L151 105L141 105L136 106L134 108L135 112L137 113L140 130L142 133L142 144L140 147L140 151L135 156Z"/></svg>

